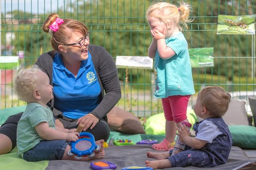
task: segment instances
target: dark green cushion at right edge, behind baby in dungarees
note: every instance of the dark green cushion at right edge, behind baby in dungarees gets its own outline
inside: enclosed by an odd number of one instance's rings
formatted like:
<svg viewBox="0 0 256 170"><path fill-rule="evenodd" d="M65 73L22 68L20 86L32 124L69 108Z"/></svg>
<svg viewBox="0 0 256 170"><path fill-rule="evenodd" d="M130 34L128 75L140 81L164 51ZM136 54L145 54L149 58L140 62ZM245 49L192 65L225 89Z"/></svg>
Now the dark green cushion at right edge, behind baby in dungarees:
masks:
<svg viewBox="0 0 256 170"><path fill-rule="evenodd" d="M256 149L256 128L247 125L228 126L233 138L233 146L242 149Z"/></svg>

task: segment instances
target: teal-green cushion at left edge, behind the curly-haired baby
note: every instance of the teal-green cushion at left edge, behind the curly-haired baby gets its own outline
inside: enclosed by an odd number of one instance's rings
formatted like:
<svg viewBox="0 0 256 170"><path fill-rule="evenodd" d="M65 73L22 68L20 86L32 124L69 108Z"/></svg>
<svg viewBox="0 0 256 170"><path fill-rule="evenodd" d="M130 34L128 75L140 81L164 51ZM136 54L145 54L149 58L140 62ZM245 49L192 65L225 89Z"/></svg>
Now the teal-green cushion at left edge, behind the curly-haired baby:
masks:
<svg viewBox="0 0 256 170"><path fill-rule="evenodd" d="M0 125L3 124L9 116L15 115L20 112L24 112L25 108L26 108L26 106L17 106L17 107L1 109L0 110Z"/></svg>

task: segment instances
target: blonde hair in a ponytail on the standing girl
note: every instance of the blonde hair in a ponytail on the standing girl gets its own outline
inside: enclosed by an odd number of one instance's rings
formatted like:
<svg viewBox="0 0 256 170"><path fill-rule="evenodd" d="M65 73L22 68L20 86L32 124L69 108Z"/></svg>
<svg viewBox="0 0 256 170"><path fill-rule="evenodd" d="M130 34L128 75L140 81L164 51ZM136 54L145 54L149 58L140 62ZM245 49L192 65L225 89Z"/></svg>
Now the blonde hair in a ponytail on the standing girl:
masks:
<svg viewBox="0 0 256 170"><path fill-rule="evenodd" d="M193 21L193 19L189 19L190 11L190 5L184 2L180 3L180 6L178 7L167 2L155 1L149 6L146 17L147 19L151 17L156 18L165 25L171 21L179 27L180 31L182 31L180 24L188 29L187 22Z"/></svg>

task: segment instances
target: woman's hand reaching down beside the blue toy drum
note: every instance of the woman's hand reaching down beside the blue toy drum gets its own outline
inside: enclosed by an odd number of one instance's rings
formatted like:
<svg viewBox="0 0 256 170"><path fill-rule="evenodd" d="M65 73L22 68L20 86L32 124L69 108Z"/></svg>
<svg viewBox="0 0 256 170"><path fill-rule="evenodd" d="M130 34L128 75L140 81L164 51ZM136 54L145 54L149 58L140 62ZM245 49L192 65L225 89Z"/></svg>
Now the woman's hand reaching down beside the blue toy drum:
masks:
<svg viewBox="0 0 256 170"><path fill-rule="evenodd" d="M84 131L87 129L93 129L94 126L99 122L99 119L92 114L84 115L83 117L78 118L77 124L84 125Z"/></svg>

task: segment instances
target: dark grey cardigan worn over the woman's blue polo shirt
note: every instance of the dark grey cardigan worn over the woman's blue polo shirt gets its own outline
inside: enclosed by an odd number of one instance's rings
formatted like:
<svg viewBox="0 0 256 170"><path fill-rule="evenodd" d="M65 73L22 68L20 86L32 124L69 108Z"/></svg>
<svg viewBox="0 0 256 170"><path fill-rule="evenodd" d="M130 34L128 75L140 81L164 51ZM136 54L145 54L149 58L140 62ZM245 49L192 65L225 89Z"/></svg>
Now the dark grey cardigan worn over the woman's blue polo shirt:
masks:
<svg viewBox="0 0 256 170"><path fill-rule="evenodd" d="M117 104L121 98L121 87L118 79L117 68L113 57L107 50L100 46L89 45L89 52L92 55L94 69L101 87L101 96L99 105L91 112L99 120L107 121L106 114ZM47 52L39 56L36 61L43 72L45 72L52 84L52 66L54 52ZM106 93L106 94L105 94ZM54 108L54 98L49 102L49 107L53 110L55 116L62 115L60 111Z"/></svg>

